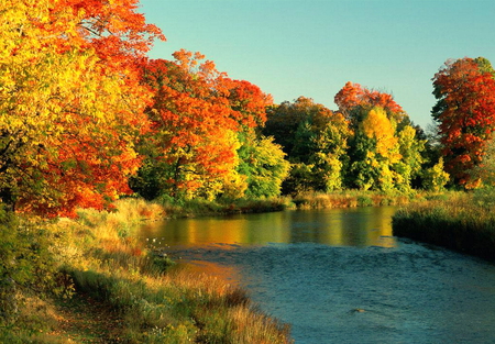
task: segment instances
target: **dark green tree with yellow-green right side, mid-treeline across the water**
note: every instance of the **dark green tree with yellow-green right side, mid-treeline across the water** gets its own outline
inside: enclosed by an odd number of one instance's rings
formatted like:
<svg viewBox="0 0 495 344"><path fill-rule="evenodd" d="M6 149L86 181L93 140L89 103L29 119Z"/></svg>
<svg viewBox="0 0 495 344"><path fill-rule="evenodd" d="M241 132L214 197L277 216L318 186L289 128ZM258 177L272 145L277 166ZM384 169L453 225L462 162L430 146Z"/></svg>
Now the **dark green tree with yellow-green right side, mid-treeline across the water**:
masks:
<svg viewBox="0 0 495 344"><path fill-rule="evenodd" d="M264 133L274 135L292 163L284 191L332 191L342 186L349 122L312 99L299 97L268 112ZM285 146L284 146L285 145Z"/></svg>

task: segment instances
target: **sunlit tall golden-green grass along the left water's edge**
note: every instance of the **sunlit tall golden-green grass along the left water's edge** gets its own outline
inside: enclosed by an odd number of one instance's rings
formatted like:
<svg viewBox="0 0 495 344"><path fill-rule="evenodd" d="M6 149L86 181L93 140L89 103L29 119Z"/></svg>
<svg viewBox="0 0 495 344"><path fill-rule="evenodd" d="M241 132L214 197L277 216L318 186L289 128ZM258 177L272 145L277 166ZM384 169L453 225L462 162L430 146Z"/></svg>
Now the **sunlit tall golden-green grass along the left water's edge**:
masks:
<svg viewBox="0 0 495 344"><path fill-rule="evenodd" d="M292 343L288 326L260 312L244 290L172 267L166 256L133 238L143 219L163 218L165 211L158 204L125 199L118 202L116 212L81 210L78 220L63 219L53 225L57 237L53 255L59 269L70 276L75 292L89 295L121 319L119 331L109 331L106 340ZM50 313L55 309L50 308ZM40 332L26 317L32 326L3 339L59 343L47 335L59 333L57 317L52 318Z"/></svg>

